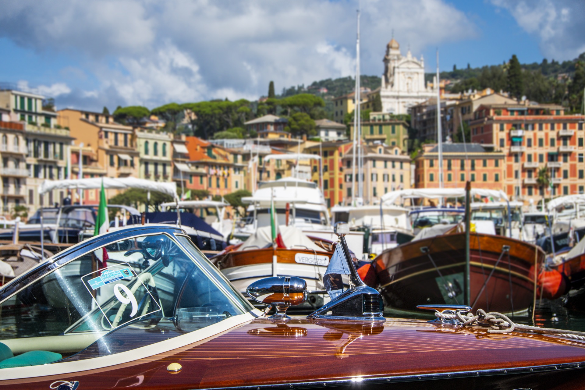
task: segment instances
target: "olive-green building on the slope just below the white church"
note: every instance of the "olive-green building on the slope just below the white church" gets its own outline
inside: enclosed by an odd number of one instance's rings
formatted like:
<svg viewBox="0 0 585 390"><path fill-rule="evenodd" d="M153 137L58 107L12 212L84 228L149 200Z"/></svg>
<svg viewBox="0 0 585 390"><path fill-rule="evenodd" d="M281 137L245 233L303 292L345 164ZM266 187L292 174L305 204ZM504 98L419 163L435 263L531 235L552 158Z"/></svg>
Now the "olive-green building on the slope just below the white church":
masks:
<svg viewBox="0 0 585 390"><path fill-rule="evenodd" d="M371 112L370 119L362 122L362 139L366 143L384 143L408 150L408 123L400 117L383 112ZM350 125L349 139L353 140L353 125Z"/></svg>

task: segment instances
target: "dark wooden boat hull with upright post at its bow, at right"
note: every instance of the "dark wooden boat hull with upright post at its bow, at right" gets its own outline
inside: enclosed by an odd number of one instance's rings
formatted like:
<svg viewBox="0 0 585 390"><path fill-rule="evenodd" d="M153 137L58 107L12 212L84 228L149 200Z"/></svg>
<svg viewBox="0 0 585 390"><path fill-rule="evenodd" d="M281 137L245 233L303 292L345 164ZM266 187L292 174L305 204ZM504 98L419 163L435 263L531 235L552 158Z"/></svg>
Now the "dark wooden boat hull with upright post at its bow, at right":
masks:
<svg viewBox="0 0 585 390"><path fill-rule="evenodd" d="M378 290L387 307L416 310L422 303L464 303L465 233L402 244L374 259ZM470 233L473 309L521 312L534 300L534 268L545 254L508 237Z"/></svg>

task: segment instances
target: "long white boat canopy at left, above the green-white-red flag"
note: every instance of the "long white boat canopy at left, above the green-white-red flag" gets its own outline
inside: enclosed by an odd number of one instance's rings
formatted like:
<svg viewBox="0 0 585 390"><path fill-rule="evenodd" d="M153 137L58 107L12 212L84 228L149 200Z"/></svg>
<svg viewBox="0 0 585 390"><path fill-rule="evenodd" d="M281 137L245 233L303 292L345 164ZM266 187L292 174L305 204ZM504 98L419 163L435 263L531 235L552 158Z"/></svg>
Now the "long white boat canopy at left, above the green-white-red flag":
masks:
<svg viewBox="0 0 585 390"><path fill-rule="evenodd" d="M53 189L96 189L102 187L102 180L104 182L104 188L106 189L128 189L128 188L140 188L146 189L147 191L159 191L163 194L173 196L174 199L178 199L177 196L177 185L167 182L157 182L151 180L137 179L135 177L125 178L109 178L109 177L94 177L84 179L71 179L71 180L45 180L40 185L39 194L44 194Z"/></svg>

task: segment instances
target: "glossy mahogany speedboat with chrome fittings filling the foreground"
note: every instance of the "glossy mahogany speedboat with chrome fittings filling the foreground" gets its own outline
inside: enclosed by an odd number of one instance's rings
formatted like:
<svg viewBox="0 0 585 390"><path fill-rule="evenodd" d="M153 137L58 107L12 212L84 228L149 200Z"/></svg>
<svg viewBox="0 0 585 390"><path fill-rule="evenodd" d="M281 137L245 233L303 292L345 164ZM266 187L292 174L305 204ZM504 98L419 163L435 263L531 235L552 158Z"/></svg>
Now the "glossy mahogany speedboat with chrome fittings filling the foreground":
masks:
<svg viewBox="0 0 585 390"><path fill-rule="evenodd" d="M118 262L98 269L97 251ZM120 278L109 283L115 272ZM304 299L306 284L298 290L296 278L280 279L273 285L281 292L264 301ZM64 250L0 289L0 388L582 388L579 339L384 319L366 312L373 306L346 305L366 295L378 294L357 285L315 312L322 315L274 320L184 230L126 227ZM340 309L342 317L327 314Z"/></svg>

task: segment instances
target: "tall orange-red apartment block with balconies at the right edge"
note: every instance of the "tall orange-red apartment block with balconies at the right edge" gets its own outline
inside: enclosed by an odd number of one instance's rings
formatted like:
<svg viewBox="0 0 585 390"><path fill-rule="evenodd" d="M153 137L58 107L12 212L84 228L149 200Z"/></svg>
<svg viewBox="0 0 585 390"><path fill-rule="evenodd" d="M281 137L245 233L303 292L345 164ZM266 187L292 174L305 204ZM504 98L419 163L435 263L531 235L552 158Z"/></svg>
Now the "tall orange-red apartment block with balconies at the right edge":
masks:
<svg viewBox="0 0 585 390"><path fill-rule="evenodd" d="M584 119L565 114L562 106L529 101L481 105L471 122L472 141L504 153L509 196L538 203L542 196L584 192ZM538 184L545 167L550 188Z"/></svg>

